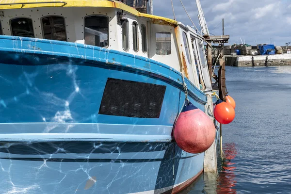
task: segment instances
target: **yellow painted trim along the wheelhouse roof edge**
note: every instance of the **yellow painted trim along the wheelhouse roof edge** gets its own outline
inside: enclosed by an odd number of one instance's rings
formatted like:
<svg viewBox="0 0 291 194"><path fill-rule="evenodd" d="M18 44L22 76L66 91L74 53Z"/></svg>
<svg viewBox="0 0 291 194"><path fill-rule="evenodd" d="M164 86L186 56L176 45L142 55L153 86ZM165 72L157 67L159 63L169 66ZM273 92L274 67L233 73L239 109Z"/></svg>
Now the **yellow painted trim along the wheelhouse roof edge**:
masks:
<svg viewBox="0 0 291 194"><path fill-rule="evenodd" d="M52 3L42 3L50 2ZM66 4L57 1L64 1ZM33 4L25 4L32 3ZM135 10L134 8L121 3L119 1L110 1L110 0L0 0L0 4L9 4L9 3L21 3L16 5L0 5L0 10L5 9L22 9L22 8L36 8L36 7L111 7L124 10L135 16L141 16L151 19L153 23L157 24L166 24L176 26L178 22L173 19L169 19L161 16L154 16L150 14L143 14ZM24 4L24 6L22 5Z"/></svg>

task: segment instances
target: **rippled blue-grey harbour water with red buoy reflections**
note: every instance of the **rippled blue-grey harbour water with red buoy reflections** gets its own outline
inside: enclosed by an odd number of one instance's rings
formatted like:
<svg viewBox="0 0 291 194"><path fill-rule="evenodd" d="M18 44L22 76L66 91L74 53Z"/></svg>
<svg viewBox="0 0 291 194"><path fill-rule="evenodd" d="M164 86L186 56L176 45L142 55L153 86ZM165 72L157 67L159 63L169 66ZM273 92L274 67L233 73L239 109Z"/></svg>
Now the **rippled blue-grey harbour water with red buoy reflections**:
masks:
<svg viewBox="0 0 291 194"><path fill-rule="evenodd" d="M227 66L226 87L236 117L223 125L218 177L180 193L291 194L291 66Z"/></svg>

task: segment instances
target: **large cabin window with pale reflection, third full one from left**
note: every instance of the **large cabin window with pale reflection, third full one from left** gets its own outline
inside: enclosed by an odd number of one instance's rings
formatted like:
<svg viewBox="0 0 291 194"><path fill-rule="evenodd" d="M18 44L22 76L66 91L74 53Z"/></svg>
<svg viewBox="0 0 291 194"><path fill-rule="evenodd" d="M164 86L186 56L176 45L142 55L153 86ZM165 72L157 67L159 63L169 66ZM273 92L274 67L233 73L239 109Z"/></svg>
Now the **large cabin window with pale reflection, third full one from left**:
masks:
<svg viewBox="0 0 291 194"><path fill-rule="evenodd" d="M85 17L85 44L108 47L109 20L107 16Z"/></svg>

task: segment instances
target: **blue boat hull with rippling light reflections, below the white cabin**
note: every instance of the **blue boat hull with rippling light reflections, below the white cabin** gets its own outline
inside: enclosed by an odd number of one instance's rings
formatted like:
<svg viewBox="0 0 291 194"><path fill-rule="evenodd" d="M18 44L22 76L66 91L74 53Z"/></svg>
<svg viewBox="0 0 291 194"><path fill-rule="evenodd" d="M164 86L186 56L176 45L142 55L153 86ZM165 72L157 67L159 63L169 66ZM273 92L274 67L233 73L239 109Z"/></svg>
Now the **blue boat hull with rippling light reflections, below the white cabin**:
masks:
<svg viewBox="0 0 291 194"><path fill-rule="evenodd" d="M181 74L110 49L0 36L0 190L29 194L177 193L202 173L172 128ZM159 117L100 114L109 78L164 86ZM191 102L206 96L187 79Z"/></svg>

